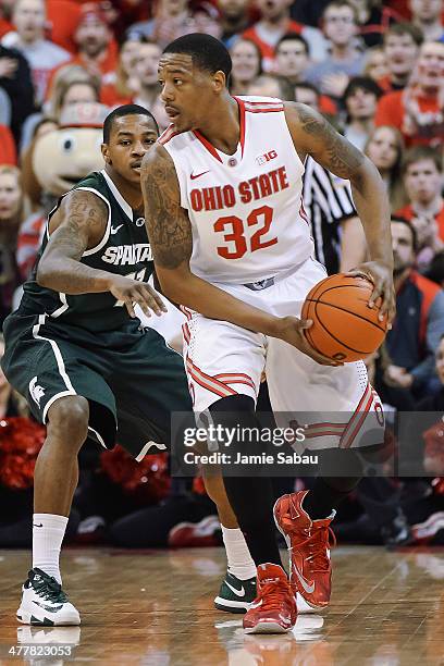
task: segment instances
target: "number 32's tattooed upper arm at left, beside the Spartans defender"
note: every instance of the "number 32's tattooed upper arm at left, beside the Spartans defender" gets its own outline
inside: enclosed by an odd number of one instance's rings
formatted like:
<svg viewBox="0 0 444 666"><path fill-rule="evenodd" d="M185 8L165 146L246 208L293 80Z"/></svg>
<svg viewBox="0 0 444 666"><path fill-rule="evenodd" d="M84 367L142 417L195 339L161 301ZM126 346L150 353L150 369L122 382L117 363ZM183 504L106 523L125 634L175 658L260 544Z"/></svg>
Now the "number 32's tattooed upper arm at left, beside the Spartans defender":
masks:
<svg viewBox="0 0 444 666"><path fill-rule="evenodd" d="M145 221L155 262L175 269L192 256L192 226L181 207L174 163L163 146L155 146L144 158L141 192Z"/></svg>

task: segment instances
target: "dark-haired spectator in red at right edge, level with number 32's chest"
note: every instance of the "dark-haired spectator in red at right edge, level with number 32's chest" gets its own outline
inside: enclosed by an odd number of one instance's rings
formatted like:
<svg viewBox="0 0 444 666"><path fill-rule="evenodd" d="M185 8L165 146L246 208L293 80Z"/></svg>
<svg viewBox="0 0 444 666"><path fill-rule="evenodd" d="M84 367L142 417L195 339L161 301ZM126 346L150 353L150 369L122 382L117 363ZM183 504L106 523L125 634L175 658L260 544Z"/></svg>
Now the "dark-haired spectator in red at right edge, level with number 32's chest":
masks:
<svg viewBox="0 0 444 666"><path fill-rule="evenodd" d="M429 264L444 243L444 199L442 159L428 146L407 151L403 176L409 203L396 214L415 226L419 245L419 263Z"/></svg>

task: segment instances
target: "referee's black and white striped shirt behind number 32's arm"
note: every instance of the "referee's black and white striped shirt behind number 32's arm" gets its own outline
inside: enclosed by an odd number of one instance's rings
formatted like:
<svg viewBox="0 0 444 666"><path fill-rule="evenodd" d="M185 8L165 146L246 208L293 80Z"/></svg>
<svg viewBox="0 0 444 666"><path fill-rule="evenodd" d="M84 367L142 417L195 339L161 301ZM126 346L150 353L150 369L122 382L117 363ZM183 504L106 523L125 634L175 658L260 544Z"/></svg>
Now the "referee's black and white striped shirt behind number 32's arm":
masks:
<svg viewBox="0 0 444 666"><path fill-rule="evenodd" d="M318 164L310 156L305 162L304 209L311 224L314 251L329 275L337 273L341 261L341 223L357 214L348 181Z"/></svg>

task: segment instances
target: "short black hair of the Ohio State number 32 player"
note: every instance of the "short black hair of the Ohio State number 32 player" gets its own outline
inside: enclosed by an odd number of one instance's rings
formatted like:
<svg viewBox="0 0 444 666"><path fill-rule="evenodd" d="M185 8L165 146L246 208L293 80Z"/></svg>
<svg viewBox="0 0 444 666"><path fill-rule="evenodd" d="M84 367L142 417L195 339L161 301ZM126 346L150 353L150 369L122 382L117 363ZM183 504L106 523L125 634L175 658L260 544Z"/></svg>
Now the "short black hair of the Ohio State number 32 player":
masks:
<svg viewBox="0 0 444 666"><path fill-rule="evenodd" d="M193 64L199 70L210 74L221 71L229 82L232 71L231 55L222 41L211 37L211 35L201 33L184 35L169 44L163 49L163 53L187 53L192 57Z"/></svg>

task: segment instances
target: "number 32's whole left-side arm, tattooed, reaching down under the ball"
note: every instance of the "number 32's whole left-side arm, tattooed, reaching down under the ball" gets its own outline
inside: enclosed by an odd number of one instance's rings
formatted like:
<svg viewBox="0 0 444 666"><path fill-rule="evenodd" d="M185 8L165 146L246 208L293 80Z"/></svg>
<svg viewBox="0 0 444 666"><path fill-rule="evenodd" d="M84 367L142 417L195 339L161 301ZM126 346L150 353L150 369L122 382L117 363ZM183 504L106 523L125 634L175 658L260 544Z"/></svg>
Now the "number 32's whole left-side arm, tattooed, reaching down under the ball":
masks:
<svg viewBox="0 0 444 666"><path fill-rule="evenodd" d="M250 331L285 340L319 363L338 365L308 345L303 335L303 329L309 328L307 322L300 322L295 317L273 317L219 289L190 271L192 225L186 210L181 206L174 162L160 144L156 144L144 157L141 190L156 272L162 293L168 298L210 319L229 321Z"/></svg>

